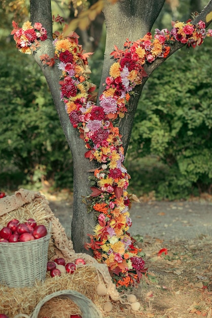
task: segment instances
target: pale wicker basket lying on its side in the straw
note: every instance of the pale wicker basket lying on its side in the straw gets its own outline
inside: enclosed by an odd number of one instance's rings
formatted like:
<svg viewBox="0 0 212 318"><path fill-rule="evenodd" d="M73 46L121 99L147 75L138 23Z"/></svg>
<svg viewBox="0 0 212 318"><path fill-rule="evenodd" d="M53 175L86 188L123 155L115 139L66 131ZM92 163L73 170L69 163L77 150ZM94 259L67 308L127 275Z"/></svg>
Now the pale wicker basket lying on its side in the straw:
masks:
<svg viewBox="0 0 212 318"><path fill-rule="evenodd" d="M50 299L54 297L68 297L70 300L76 303L76 305L81 309L83 318L102 318L102 314L96 305L88 299L86 296L71 290L58 291L44 297L34 308L31 318L38 318L41 307ZM67 316L70 316L71 312Z"/></svg>

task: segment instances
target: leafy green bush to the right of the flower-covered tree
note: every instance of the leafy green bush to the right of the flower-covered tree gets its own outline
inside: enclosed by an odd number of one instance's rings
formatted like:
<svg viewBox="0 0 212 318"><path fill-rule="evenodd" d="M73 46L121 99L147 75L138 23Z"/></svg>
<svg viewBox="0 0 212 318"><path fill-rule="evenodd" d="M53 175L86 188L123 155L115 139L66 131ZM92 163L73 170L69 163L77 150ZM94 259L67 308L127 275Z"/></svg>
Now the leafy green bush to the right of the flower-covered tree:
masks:
<svg viewBox="0 0 212 318"><path fill-rule="evenodd" d="M128 161L136 154L154 155L160 160L163 178L152 178L158 198L187 198L210 191L212 69L208 61L212 48L209 40L208 45L205 43L194 51L183 48L167 59L148 79L139 101Z"/></svg>

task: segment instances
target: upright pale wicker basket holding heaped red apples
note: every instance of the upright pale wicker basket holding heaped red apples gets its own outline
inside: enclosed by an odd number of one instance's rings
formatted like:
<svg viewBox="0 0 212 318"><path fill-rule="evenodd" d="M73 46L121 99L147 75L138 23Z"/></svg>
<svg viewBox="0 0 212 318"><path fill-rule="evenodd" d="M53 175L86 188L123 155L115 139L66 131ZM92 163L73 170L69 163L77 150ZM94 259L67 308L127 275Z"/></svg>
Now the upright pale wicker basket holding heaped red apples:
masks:
<svg viewBox="0 0 212 318"><path fill-rule="evenodd" d="M45 237L28 242L0 242L0 283L8 287L31 287L44 281L48 262L51 222Z"/></svg>

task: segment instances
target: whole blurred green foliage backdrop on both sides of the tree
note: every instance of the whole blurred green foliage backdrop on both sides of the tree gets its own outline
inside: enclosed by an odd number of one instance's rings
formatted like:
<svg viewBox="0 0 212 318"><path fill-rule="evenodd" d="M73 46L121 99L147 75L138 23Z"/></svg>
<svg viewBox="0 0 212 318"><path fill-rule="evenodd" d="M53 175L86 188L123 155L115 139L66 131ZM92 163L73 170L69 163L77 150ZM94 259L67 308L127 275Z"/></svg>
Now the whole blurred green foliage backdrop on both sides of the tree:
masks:
<svg viewBox="0 0 212 318"><path fill-rule="evenodd" d="M183 12L184 2L180 17ZM5 19L2 9L0 16ZM154 27L167 27L170 20L164 6ZM31 56L17 52L6 22L8 34L0 30L0 190L41 188L45 181L54 189L72 189L72 156L45 78ZM104 34L91 58L95 84L103 43ZM210 193L211 53L211 39L195 49L183 48L148 79L125 161L130 191L138 196L155 191L158 199L173 200Z"/></svg>

